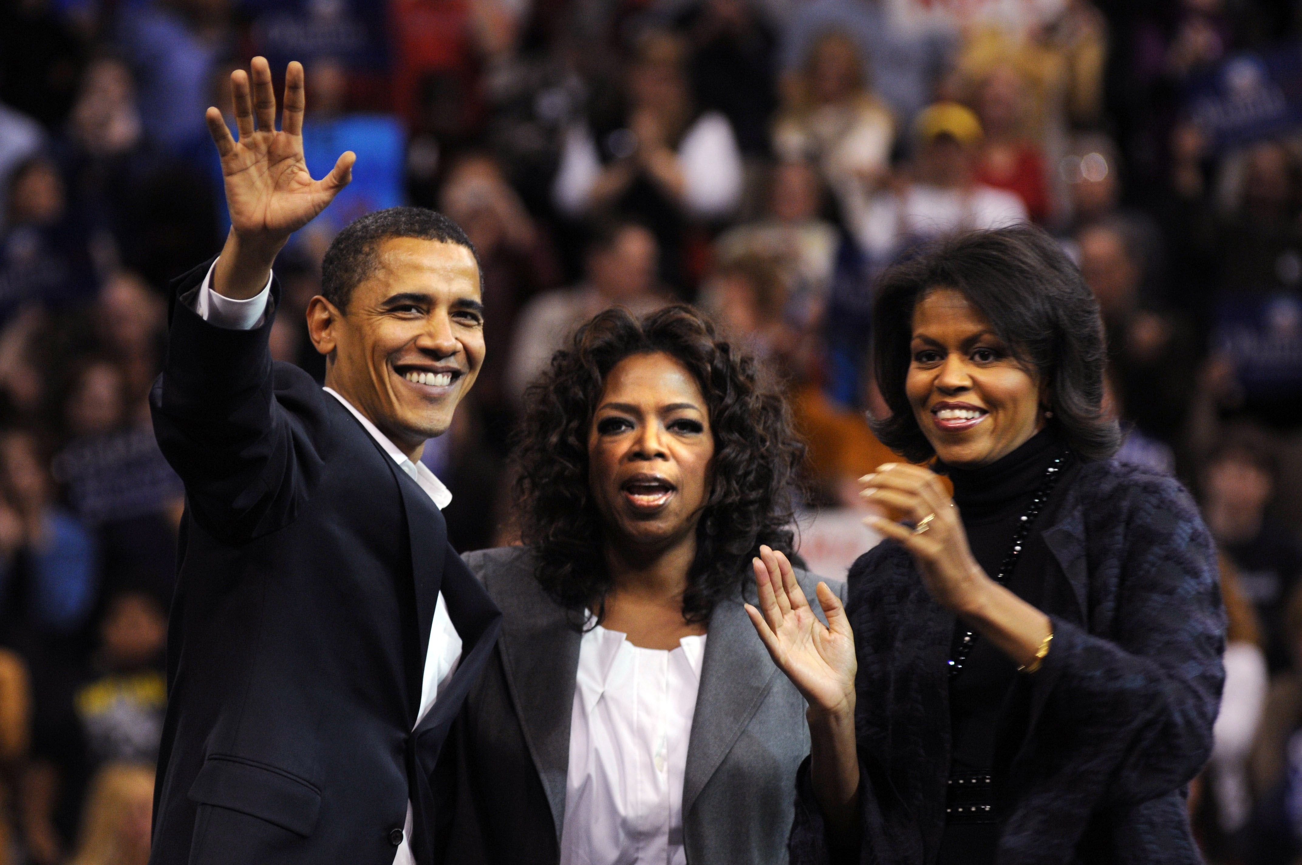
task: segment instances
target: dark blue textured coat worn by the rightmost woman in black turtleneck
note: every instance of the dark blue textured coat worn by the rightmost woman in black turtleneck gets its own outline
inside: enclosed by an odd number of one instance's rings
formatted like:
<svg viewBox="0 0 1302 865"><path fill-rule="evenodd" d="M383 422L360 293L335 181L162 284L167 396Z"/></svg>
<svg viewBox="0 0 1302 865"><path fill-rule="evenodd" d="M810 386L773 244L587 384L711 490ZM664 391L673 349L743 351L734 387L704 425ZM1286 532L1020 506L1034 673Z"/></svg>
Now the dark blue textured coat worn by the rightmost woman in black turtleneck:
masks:
<svg viewBox="0 0 1302 865"><path fill-rule="evenodd" d="M1212 748L1225 616L1211 537L1176 481L1087 462L1040 533L1065 581L1053 644L1019 676L996 737L1001 865L1194 864L1185 786ZM1034 533L1032 533L1034 537ZM954 615L887 541L849 573L865 865L935 861L949 774ZM996 761L996 765L1000 761ZM799 775L793 864L825 862Z"/></svg>

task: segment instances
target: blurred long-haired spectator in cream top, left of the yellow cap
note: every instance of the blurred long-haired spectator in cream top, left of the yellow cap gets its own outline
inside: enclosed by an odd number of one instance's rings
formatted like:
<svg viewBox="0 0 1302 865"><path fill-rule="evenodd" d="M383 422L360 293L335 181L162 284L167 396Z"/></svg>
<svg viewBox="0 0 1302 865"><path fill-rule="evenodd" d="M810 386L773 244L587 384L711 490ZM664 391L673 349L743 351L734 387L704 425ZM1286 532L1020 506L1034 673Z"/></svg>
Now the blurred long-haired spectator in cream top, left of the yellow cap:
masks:
<svg viewBox="0 0 1302 865"><path fill-rule="evenodd" d="M788 162L818 165L838 195L848 186L876 186L891 168L894 119L865 78L854 40L827 33L786 87L783 112L773 126L773 150Z"/></svg>

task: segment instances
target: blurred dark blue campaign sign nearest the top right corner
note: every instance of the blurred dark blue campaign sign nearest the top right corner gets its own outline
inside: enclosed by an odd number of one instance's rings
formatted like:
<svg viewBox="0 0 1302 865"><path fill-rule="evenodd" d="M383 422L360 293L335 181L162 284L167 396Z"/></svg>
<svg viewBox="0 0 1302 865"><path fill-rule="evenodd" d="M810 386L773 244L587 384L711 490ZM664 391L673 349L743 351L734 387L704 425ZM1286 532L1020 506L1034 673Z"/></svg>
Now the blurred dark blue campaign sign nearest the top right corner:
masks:
<svg viewBox="0 0 1302 865"><path fill-rule="evenodd" d="M1189 83L1185 109L1217 150L1302 129L1302 44L1230 56Z"/></svg>

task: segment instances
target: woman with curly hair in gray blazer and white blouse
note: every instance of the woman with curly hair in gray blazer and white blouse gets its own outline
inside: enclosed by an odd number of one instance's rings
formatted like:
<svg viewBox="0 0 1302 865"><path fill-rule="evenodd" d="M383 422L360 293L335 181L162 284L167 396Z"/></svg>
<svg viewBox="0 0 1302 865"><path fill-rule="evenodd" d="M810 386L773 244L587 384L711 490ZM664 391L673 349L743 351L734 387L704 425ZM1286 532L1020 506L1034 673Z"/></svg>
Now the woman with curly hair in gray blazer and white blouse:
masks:
<svg viewBox="0 0 1302 865"><path fill-rule="evenodd" d="M805 702L743 604L790 552L802 455L690 307L556 353L517 448L527 546L466 556L503 629L440 765L445 861L786 862Z"/></svg>

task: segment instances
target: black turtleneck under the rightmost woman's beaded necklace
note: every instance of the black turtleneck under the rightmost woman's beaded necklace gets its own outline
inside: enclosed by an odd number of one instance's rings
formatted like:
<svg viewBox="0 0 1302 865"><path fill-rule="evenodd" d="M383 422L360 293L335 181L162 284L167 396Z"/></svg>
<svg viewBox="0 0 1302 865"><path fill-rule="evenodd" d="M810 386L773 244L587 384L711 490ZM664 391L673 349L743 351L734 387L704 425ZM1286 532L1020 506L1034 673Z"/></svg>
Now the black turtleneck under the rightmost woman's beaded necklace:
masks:
<svg viewBox="0 0 1302 865"><path fill-rule="evenodd" d="M1062 439L1053 429L1047 427L990 465L978 469L941 466L954 483L954 504L958 505L963 530L967 533L967 545L976 563L991 578L999 573L1021 517L1044 482L1046 469L1065 452ZM1048 580L1051 569L1057 565L1039 533L1056 521L1064 492L1072 486L1078 470L1079 460L1072 460L1059 477L1053 495L1035 520L1017 567L1005 584L1023 601L1042 610L1052 608L1047 593L1060 590L1060 586ZM954 644L966 631L967 625L958 621ZM990 641L978 637L962 671L949 680L953 771L986 773L996 779L1004 775L1006 766L996 759L996 731L1001 724L1025 723L1023 718L1005 716L1018 711L1009 705L1016 680L1017 664ZM1000 757L1006 761L1012 754ZM948 826L937 865L993 862L997 842L995 825Z"/></svg>

